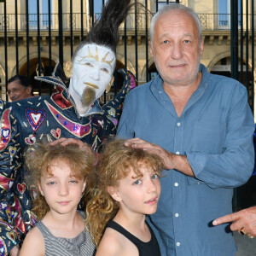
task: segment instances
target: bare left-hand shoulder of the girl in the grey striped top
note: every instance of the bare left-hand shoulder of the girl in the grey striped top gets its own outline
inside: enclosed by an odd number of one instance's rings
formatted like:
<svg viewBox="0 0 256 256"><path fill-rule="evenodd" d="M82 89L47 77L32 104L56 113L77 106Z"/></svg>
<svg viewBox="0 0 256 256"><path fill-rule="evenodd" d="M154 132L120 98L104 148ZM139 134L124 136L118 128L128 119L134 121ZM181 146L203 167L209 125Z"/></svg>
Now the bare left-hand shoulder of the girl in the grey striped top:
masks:
<svg viewBox="0 0 256 256"><path fill-rule="evenodd" d="M33 227L25 237L19 256L41 256L44 255L44 236L38 227Z"/></svg>

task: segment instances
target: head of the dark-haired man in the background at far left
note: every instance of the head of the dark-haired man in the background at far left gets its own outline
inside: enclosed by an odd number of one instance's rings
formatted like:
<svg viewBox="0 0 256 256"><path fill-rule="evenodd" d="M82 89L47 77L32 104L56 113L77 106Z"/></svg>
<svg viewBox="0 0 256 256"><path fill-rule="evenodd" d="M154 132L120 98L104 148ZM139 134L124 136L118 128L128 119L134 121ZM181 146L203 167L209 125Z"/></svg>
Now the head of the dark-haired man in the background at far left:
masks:
<svg viewBox="0 0 256 256"><path fill-rule="evenodd" d="M8 80L7 93L12 102L33 96L32 85L25 76L15 75Z"/></svg>

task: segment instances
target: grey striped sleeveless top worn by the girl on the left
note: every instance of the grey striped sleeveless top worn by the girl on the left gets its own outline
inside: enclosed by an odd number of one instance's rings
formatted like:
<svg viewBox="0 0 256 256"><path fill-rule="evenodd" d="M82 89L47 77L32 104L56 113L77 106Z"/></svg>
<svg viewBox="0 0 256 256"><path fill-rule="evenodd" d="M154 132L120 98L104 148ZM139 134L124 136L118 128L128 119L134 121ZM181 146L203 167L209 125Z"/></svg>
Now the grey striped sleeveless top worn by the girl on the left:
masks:
<svg viewBox="0 0 256 256"><path fill-rule="evenodd" d="M78 212L84 219L84 212ZM44 256L92 256L96 253L90 233L85 229L74 238L64 238L54 236L41 221L36 226L44 236Z"/></svg>

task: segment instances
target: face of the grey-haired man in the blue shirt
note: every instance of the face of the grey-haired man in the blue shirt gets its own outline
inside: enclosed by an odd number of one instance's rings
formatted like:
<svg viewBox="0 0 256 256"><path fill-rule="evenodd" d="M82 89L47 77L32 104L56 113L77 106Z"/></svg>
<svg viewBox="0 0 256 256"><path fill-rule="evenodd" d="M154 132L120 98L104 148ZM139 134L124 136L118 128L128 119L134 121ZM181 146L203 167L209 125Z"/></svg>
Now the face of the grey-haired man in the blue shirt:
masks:
<svg viewBox="0 0 256 256"><path fill-rule="evenodd" d="M166 85L189 85L197 76L203 42L195 20L180 10L161 15L154 25L155 65Z"/></svg>

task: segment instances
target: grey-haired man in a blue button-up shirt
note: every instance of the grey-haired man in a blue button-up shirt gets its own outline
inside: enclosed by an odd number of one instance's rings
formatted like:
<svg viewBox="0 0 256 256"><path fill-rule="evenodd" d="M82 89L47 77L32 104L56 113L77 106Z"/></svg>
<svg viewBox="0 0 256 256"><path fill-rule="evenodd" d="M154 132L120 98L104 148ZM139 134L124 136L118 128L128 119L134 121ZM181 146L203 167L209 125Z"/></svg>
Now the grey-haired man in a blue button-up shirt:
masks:
<svg viewBox="0 0 256 256"><path fill-rule="evenodd" d="M233 188L253 172L253 115L247 90L200 64L201 23L189 8L166 5L153 18L150 52L160 76L125 97L118 136L159 154L162 255L235 255L232 234L212 220L232 211Z"/></svg>

